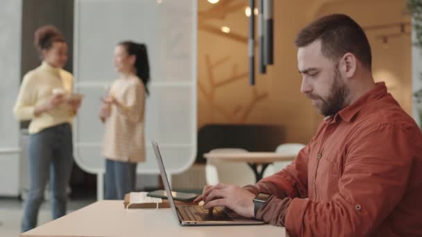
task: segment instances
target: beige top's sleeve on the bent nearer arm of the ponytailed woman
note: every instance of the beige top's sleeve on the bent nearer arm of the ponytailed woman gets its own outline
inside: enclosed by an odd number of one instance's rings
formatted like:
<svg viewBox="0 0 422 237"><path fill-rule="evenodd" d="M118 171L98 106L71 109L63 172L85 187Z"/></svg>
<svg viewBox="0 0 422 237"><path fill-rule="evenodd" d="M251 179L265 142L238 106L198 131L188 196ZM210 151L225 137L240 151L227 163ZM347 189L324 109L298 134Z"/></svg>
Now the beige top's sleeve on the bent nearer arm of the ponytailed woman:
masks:
<svg viewBox="0 0 422 237"><path fill-rule="evenodd" d="M140 83L129 87L125 94L125 102L117 107L119 112L133 123L142 121L145 109L145 89Z"/></svg>

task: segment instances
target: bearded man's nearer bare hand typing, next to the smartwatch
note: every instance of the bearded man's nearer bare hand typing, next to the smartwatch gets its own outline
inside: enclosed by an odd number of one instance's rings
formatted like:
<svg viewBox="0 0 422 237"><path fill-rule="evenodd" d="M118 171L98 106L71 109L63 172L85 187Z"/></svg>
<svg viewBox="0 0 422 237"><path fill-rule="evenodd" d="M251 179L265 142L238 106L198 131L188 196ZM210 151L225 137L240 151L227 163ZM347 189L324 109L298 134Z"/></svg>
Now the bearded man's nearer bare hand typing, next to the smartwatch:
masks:
<svg viewBox="0 0 422 237"><path fill-rule="evenodd" d="M205 209L212 209L216 206L228 207L241 216L253 218L253 198L255 198L255 194L239 186L217 184L205 186L202 195L194 202L203 200Z"/></svg>

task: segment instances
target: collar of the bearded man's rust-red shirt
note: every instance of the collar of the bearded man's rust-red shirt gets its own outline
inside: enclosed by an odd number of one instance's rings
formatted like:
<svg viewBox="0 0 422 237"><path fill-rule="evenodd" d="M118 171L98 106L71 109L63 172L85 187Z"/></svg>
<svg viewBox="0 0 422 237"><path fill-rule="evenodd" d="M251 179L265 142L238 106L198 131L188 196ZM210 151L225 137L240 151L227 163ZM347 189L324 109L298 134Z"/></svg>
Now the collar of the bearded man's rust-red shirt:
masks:
<svg viewBox="0 0 422 237"><path fill-rule="evenodd" d="M387 87L385 86L385 82L375 83L375 87L373 87L371 91L366 92L366 94L360 96L360 98L358 98L351 105L341 109L337 114L335 114L334 121L337 121L339 118L341 118L344 121L350 123L355 115L360 112L360 110L362 110L369 102L378 100L378 98L385 96L385 94L387 94Z"/></svg>

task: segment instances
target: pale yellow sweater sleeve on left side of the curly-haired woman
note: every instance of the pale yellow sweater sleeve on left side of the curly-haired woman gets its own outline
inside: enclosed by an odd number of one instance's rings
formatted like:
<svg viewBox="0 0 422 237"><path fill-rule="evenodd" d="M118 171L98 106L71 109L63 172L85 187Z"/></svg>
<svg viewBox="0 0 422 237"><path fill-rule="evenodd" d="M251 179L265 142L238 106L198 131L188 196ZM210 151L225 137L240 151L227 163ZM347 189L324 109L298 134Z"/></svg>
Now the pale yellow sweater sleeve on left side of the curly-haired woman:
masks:
<svg viewBox="0 0 422 237"><path fill-rule="evenodd" d="M13 107L13 114L19 121L33 119L35 111L35 89L31 86L31 76L26 75L19 88L19 94Z"/></svg>

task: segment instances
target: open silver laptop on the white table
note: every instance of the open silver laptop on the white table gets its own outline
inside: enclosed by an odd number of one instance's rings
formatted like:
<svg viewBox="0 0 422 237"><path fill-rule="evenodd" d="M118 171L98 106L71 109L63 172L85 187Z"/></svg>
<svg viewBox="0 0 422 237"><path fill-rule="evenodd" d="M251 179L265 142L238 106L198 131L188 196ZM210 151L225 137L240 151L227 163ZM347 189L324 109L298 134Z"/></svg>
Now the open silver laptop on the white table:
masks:
<svg viewBox="0 0 422 237"><path fill-rule="evenodd" d="M234 211L229 211L223 207L214 207L213 211L203 209L199 205L176 205L171 195L169 179L162 163L162 156L158 144L153 141L153 150L157 158L158 168L160 168L162 183L169 199L171 211L178 218L180 225L261 225L264 222L251 218L239 216Z"/></svg>

